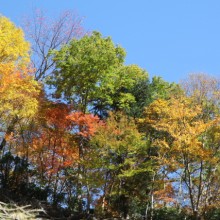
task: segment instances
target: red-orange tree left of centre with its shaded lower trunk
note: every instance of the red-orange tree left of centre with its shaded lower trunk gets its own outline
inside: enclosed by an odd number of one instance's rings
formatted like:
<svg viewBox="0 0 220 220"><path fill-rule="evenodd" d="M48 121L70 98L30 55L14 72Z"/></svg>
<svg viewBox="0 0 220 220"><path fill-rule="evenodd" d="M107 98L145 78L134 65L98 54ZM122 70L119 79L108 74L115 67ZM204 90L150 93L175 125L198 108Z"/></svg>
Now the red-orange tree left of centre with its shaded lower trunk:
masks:
<svg viewBox="0 0 220 220"><path fill-rule="evenodd" d="M58 205L68 197L66 170L76 169L79 152L67 119L71 108L59 103L47 103L44 107L47 108L43 109L43 121L30 143L29 161L37 170L36 184L47 190L51 202Z"/></svg>

